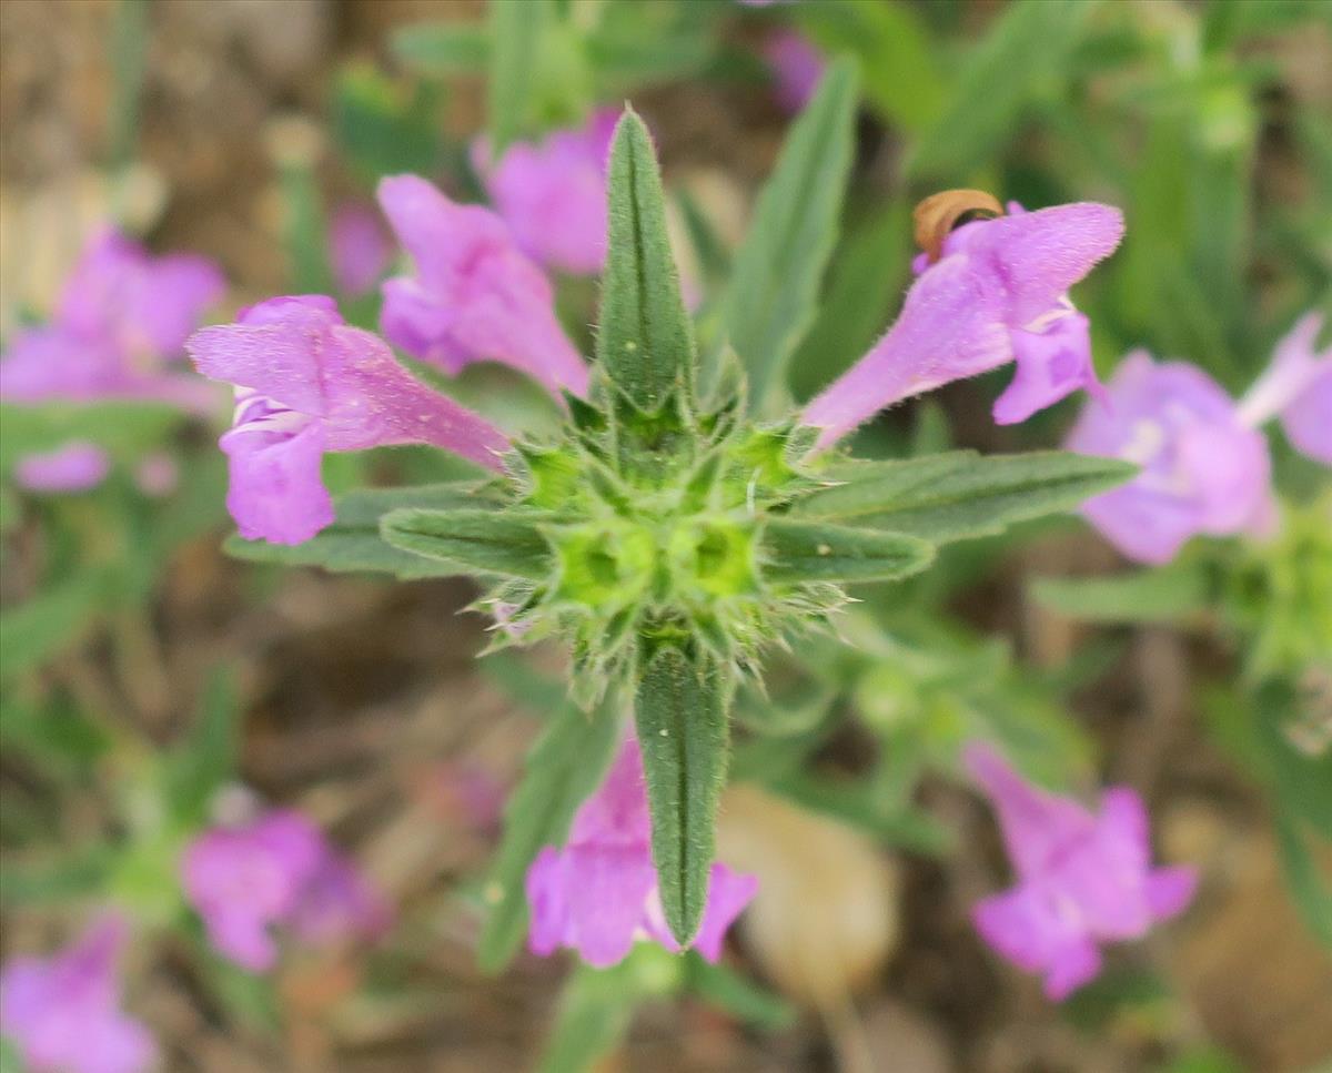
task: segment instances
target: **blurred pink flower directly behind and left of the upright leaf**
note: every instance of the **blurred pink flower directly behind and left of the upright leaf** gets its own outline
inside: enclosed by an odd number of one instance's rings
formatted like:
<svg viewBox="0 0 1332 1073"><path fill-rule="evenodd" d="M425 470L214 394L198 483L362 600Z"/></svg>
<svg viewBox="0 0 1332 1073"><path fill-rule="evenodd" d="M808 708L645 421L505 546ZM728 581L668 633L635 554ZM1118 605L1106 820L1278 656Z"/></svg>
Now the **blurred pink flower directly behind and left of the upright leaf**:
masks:
<svg viewBox="0 0 1332 1073"><path fill-rule="evenodd" d="M472 161L518 246L547 268L595 276L606 261L606 162L619 113L602 108L579 126L515 142L498 162L478 138Z"/></svg>

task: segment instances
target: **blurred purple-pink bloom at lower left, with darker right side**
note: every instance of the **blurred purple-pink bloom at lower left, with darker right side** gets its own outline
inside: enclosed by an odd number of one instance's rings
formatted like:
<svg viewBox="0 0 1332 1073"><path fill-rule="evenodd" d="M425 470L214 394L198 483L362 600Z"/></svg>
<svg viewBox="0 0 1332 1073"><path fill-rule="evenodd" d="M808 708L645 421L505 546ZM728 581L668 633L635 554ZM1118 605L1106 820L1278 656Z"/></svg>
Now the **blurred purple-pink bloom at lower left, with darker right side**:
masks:
<svg viewBox="0 0 1332 1073"><path fill-rule="evenodd" d="M277 928L321 945L373 939L389 920L352 864L288 809L205 831L185 849L181 883L209 943L249 972L277 963Z"/></svg>

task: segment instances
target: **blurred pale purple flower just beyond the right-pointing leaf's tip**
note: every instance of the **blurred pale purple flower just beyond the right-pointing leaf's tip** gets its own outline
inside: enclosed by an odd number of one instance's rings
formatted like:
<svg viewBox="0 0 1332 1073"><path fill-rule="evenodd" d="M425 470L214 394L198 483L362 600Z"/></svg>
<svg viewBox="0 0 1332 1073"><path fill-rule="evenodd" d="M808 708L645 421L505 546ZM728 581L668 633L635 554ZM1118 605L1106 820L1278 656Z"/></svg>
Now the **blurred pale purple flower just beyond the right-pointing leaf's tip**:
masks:
<svg viewBox="0 0 1332 1073"><path fill-rule="evenodd" d="M1088 405L1066 446L1142 466L1083 505L1100 534L1136 562L1166 563L1191 536L1260 531L1271 519L1267 441L1219 383L1187 362L1130 354L1110 382L1110 406Z"/></svg>

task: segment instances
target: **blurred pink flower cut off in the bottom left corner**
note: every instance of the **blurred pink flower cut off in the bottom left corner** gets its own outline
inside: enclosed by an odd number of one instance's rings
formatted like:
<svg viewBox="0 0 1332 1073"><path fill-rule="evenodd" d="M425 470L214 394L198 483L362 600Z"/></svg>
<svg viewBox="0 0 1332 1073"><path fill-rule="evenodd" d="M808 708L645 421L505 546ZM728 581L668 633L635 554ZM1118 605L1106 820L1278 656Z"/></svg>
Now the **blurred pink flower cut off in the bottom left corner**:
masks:
<svg viewBox="0 0 1332 1073"><path fill-rule="evenodd" d="M120 1012L116 960L127 940L117 916L95 921L51 959L16 957L0 972L0 1032L32 1073L141 1073L153 1038Z"/></svg>

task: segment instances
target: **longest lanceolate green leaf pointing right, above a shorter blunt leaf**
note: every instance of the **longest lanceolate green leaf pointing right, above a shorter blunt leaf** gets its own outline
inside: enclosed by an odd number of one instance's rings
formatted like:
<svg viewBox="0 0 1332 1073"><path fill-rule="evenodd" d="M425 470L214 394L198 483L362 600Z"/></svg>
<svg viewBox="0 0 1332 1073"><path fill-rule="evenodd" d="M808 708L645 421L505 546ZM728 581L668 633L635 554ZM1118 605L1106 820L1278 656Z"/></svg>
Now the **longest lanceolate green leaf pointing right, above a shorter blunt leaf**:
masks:
<svg viewBox="0 0 1332 1073"><path fill-rule="evenodd" d="M791 514L908 533L942 544L1074 510L1135 473L1127 462L1070 451L988 457L954 451L852 463L831 474L846 483L807 495Z"/></svg>

